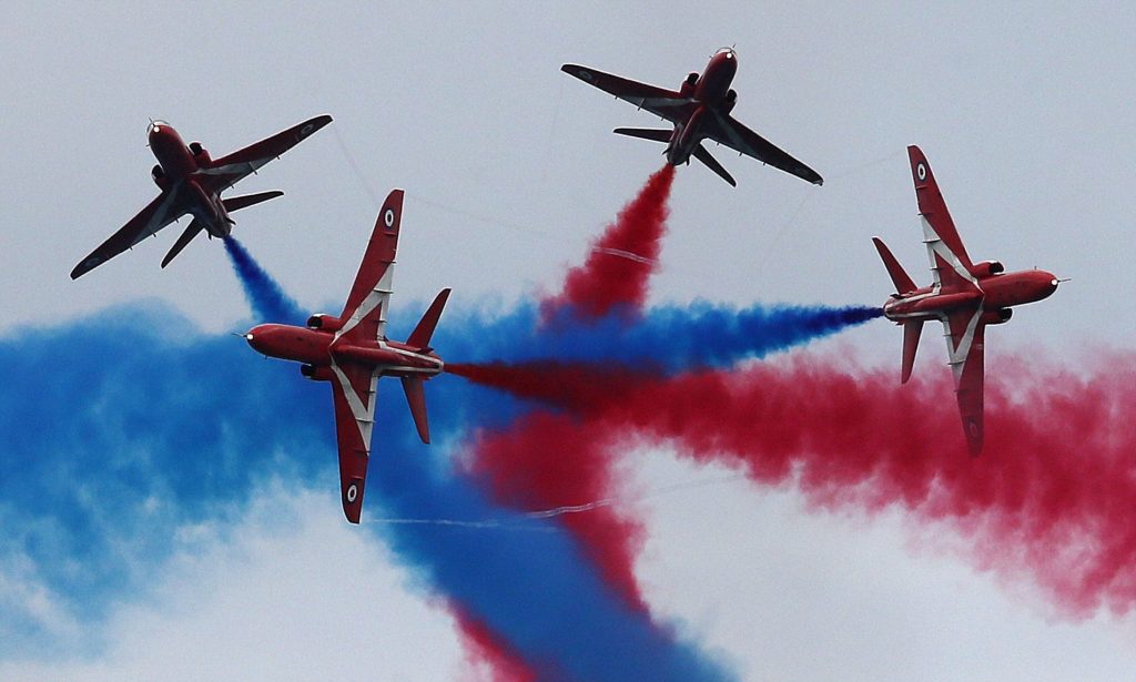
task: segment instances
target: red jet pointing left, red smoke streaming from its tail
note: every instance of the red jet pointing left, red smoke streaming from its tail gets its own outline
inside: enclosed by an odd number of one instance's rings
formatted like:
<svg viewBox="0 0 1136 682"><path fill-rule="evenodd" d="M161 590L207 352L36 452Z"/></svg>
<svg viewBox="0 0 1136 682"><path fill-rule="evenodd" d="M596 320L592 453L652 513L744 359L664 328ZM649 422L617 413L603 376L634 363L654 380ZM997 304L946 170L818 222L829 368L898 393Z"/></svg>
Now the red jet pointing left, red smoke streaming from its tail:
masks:
<svg viewBox="0 0 1136 682"><path fill-rule="evenodd" d="M265 355L302 362L300 372L328 381L335 404L343 513L359 523L362 512L370 431L375 423L375 389L379 377L399 377L418 436L429 443L423 382L442 371L442 359L429 347L434 327L450 289L434 298L406 343L386 338L386 309L399 245L402 190L386 197L346 305L339 317L314 314L308 326L260 325L244 335Z"/></svg>

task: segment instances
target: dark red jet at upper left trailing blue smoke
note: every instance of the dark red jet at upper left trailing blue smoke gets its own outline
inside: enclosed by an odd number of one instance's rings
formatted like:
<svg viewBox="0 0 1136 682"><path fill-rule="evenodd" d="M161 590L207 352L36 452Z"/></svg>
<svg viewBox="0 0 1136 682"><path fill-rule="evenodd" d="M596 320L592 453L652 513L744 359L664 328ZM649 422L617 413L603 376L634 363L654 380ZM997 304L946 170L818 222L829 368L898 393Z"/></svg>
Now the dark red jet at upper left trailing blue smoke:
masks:
<svg viewBox="0 0 1136 682"><path fill-rule="evenodd" d="M150 177L161 194L75 266L72 279L90 272L186 213L192 214L193 220L162 259L162 268L202 230L210 237L227 237L234 225L228 216L232 211L284 193L260 192L229 199L222 199L220 193L329 123L331 116L317 116L227 157L210 159L200 142L186 146L173 126L164 120L150 121L150 149L158 159Z"/></svg>

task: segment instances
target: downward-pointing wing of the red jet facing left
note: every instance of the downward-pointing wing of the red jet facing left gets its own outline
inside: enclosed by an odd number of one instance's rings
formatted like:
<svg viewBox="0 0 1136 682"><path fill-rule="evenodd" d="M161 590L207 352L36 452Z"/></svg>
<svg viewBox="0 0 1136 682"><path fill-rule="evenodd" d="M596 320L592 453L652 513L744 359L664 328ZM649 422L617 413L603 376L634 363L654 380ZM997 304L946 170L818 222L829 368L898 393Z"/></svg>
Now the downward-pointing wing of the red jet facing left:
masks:
<svg viewBox="0 0 1136 682"><path fill-rule="evenodd" d="M378 374L359 365L332 364L335 402L335 438L340 449L340 492L343 514L359 523L362 494L370 460L370 433L375 426L375 389Z"/></svg>

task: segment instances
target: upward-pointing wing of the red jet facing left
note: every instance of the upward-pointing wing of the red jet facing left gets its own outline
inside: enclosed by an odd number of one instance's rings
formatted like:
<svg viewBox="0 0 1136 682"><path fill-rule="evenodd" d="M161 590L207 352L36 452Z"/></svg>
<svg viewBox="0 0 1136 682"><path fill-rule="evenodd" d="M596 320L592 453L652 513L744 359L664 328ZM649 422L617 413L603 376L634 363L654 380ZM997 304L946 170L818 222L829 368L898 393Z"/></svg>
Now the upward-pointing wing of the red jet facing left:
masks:
<svg viewBox="0 0 1136 682"><path fill-rule="evenodd" d="M394 283L394 256L402 224L402 190L392 190L375 220L370 242L359 263L351 293L340 318L345 320L336 339L357 336L374 342L386 338L386 310Z"/></svg>

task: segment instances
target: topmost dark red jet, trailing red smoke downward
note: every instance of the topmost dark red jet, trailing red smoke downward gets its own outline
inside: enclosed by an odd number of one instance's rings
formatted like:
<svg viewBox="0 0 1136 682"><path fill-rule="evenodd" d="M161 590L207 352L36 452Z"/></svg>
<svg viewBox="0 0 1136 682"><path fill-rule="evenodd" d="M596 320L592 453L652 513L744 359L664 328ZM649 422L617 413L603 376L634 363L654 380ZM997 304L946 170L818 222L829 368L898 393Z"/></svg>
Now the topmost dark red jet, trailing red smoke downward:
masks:
<svg viewBox="0 0 1136 682"><path fill-rule="evenodd" d="M737 123L729 115L730 109L737 102L737 93L729 87L734 81L734 74L737 73L737 53L734 52L733 48L722 48L715 52L702 75L691 73L679 86L678 92L612 76L575 64L566 64L560 67L560 70L613 94L625 102L630 102L640 109L646 109L651 113L669 120L674 125L671 130L616 128L613 132L619 135L666 143L667 151L665 153L667 162L671 166L690 163L693 155L736 187L737 183L734 182L734 178L702 146L702 140L709 137L740 154L753 157L815 185L821 185L825 182L817 175L817 171Z"/></svg>

